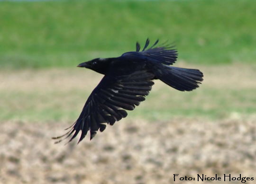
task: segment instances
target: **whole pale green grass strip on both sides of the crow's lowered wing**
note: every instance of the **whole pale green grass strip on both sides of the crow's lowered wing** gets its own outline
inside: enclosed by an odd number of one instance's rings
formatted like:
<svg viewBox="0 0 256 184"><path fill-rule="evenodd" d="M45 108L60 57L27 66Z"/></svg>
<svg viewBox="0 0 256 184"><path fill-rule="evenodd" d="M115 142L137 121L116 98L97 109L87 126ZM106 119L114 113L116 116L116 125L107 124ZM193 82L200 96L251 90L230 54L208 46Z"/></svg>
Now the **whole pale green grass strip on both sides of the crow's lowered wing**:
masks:
<svg viewBox="0 0 256 184"><path fill-rule="evenodd" d="M165 88L151 92L128 118L149 121L170 120L173 117L228 118L231 114L255 114L255 89L221 90L201 88L179 92ZM74 121L80 114L89 91L66 92L1 92L0 120ZM165 96L165 97L161 97ZM253 102L254 100L254 102Z"/></svg>

